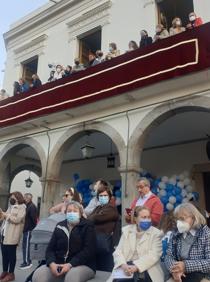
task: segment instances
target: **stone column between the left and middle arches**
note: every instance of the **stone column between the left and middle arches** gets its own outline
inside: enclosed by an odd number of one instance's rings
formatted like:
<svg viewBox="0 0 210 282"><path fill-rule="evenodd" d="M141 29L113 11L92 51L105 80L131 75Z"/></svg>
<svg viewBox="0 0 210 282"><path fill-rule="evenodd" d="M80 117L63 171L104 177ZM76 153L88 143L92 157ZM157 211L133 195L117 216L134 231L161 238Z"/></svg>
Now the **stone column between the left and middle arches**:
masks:
<svg viewBox="0 0 210 282"><path fill-rule="evenodd" d="M49 209L55 205L57 194L60 193L60 180L58 179L40 179L42 184L42 203L40 216L46 217L49 215Z"/></svg>

